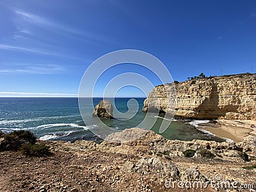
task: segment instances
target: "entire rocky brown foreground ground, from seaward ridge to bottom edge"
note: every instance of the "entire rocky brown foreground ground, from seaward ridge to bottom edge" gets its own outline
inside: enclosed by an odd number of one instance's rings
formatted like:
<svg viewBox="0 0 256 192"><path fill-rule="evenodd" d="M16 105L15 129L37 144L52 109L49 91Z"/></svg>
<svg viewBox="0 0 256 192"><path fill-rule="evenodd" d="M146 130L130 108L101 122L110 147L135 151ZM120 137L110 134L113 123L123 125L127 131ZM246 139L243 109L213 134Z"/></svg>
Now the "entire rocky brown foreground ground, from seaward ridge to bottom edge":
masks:
<svg viewBox="0 0 256 192"><path fill-rule="evenodd" d="M132 140L136 134L141 138ZM1 152L0 191L256 190L256 170L243 168L255 164L255 136L241 143L170 141L152 131L126 129L100 144L44 143L51 147L51 156ZM185 157L187 149L194 149L195 156ZM202 149L215 157L200 156ZM232 185L237 188L230 189Z"/></svg>

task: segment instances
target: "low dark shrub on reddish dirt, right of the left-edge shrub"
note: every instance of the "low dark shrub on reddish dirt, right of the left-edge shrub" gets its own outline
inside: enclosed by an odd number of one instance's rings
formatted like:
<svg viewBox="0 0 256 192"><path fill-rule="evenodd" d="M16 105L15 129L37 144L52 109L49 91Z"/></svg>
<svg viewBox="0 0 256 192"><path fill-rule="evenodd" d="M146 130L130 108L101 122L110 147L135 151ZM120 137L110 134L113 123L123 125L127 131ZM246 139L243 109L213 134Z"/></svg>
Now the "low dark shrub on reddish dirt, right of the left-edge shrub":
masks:
<svg viewBox="0 0 256 192"><path fill-rule="evenodd" d="M45 145L44 143L32 145L31 143L23 144L20 147L20 151L22 154L26 156L33 156L33 157L41 157L41 156L48 156L51 154L49 151L49 146Z"/></svg>

